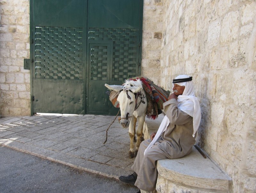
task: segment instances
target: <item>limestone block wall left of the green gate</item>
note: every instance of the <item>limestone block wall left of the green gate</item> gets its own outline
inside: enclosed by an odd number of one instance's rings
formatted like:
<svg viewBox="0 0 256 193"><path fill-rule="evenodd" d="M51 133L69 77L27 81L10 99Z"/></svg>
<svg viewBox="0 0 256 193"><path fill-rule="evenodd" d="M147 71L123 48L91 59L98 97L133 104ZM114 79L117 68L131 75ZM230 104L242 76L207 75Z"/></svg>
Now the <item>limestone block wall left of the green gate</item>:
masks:
<svg viewBox="0 0 256 193"><path fill-rule="evenodd" d="M0 115L30 115L29 0L0 0Z"/></svg>

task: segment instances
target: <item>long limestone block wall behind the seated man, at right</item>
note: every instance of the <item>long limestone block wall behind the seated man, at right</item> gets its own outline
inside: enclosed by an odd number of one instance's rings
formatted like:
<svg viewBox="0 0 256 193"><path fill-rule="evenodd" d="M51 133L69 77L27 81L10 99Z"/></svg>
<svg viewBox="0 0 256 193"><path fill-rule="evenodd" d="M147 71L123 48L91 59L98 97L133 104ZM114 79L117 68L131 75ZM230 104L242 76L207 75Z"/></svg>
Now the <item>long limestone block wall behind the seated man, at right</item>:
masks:
<svg viewBox="0 0 256 193"><path fill-rule="evenodd" d="M197 143L232 178L256 189L256 2L163 0L161 86L193 76L202 120Z"/></svg>

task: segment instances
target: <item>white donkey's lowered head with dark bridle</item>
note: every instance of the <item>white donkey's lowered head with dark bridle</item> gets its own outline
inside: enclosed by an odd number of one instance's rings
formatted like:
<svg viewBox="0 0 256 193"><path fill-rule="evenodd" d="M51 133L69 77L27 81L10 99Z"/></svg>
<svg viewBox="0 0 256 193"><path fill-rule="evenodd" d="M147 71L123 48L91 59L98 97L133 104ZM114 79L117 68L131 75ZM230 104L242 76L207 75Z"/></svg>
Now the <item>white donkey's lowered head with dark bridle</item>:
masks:
<svg viewBox="0 0 256 193"><path fill-rule="evenodd" d="M135 93L138 93L140 90L142 90L141 82L126 81L122 86L108 84L105 84L105 86L110 90L120 92L117 97L121 111L120 124L124 128L129 127L130 118L132 117L132 113L134 112L136 106Z"/></svg>

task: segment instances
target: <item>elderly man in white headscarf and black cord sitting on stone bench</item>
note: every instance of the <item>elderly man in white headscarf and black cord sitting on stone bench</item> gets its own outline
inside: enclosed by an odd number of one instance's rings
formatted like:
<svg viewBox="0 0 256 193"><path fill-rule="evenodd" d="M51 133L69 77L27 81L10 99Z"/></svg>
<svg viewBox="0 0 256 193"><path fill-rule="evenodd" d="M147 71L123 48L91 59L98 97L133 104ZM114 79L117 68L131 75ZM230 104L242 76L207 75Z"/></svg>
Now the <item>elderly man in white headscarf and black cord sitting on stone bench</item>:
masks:
<svg viewBox="0 0 256 193"><path fill-rule="evenodd" d="M157 160L186 156L195 144L201 110L194 94L192 77L180 75L172 83L173 93L163 104L166 115L157 133L140 144L132 166L134 173L119 177L119 180L145 191L153 191L156 187Z"/></svg>

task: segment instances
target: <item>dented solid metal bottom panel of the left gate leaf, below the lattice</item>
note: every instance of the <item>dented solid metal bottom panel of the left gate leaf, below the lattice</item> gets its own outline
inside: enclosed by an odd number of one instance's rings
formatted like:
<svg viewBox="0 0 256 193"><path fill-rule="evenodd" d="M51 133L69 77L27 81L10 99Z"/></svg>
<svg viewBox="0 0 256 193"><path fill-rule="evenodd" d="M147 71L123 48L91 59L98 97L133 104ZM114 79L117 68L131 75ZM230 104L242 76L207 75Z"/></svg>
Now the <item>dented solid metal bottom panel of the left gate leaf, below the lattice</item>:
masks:
<svg viewBox="0 0 256 193"><path fill-rule="evenodd" d="M34 112L84 114L83 81L34 79Z"/></svg>

